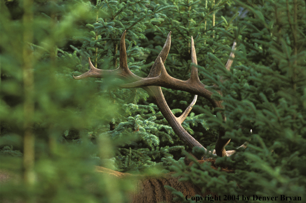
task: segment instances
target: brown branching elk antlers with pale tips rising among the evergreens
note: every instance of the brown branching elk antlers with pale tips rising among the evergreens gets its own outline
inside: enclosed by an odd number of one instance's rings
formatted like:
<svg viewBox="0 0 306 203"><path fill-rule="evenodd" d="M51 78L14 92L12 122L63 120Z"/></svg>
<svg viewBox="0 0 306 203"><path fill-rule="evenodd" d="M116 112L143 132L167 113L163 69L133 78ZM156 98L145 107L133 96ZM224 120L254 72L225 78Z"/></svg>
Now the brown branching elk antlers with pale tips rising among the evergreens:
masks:
<svg viewBox="0 0 306 203"><path fill-rule="evenodd" d="M73 76L74 79L83 79L86 77L96 77L96 78L104 78L109 75L116 76L117 78L126 79L128 83L124 85L119 85L121 88L142 88L148 92L150 96L154 98L156 101L157 107L159 108L162 115L165 116L169 125L172 127L173 131L190 147L193 148L195 146L204 148L196 139L194 139L183 127L181 123L185 120L192 107L194 106L197 95L205 97L208 99L213 107L223 108L221 100L215 100L211 98L212 92L207 89L208 86L202 84L198 77L198 70L196 66L192 66L191 68L191 76L188 80L183 81L180 79L176 79L171 77L164 66L165 60L168 56L170 45L171 45L171 31L167 36L166 43L162 48L161 52L157 56L151 71L146 78L139 77L132 73L128 68L127 63L127 53L126 53L126 44L125 44L125 35L126 31L121 35L120 39L120 63L119 67L115 70L100 70L95 68L89 58L89 66L90 70L80 76ZM236 49L236 43L234 42L232 52L230 54L230 58L226 64L226 69L230 70L231 64L233 62L234 53L233 51ZM191 37L191 62L197 65L196 52L194 48L193 38ZM196 94L192 103L189 107L182 113L181 116L176 117L170 110L167 105L164 94L162 94L161 88L171 88L176 90L182 90L189 93ZM226 119L225 116L223 116ZM219 130L219 137L216 143L216 154L217 156L229 156L233 153L233 150L226 152L225 147L230 142L230 139L223 139L223 135L225 134L224 130ZM209 151L210 152L210 151ZM211 152L210 152L211 153ZM206 157L205 157L206 158Z"/></svg>

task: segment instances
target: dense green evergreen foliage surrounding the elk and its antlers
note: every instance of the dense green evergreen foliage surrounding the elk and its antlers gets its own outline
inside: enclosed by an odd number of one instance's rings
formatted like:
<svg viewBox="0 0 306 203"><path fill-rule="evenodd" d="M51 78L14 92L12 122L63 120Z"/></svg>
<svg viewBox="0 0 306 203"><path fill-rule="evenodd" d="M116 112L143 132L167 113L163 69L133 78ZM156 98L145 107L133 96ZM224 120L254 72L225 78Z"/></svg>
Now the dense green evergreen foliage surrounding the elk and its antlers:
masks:
<svg viewBox="0 0 306 203"><path fill-rule="evenodd" d="M126 202L129 180L94 171L104 166L135 174L176 171L203 191L240 200L306 199L304 1L5 0L0 6L0 173L20 176L18 184L0 188L1 198ZM231 138L227 150L249 141L235 156L217 158L235 173L185 166L185 150L192 149L144 90L117 88L114 78L72 78L88 70L88 57L99 69L118 67L125 30L128 65L142 77L171 31L165 67L188 79L193 36L201 82L221 89L221 97L213 96L223 100L227 121L199 98L182 125L210 150L219 128ZM234 40L236 57L226 71ZM176 115L193 99L163 92Z"/></svg>

